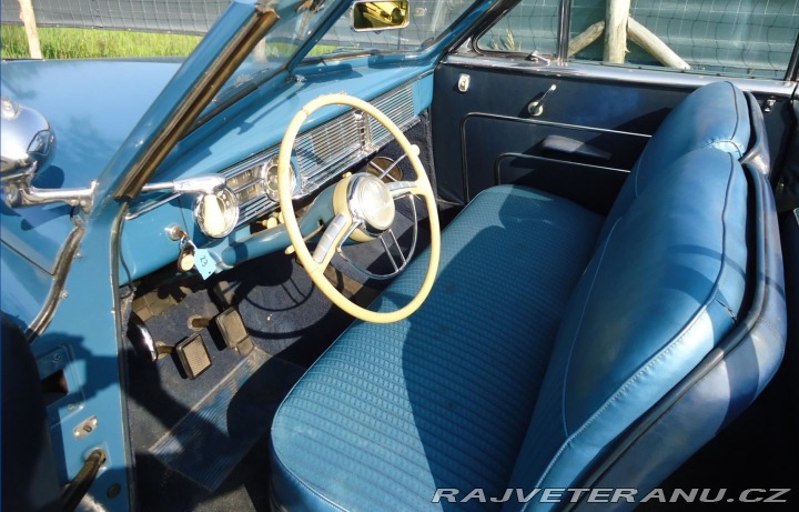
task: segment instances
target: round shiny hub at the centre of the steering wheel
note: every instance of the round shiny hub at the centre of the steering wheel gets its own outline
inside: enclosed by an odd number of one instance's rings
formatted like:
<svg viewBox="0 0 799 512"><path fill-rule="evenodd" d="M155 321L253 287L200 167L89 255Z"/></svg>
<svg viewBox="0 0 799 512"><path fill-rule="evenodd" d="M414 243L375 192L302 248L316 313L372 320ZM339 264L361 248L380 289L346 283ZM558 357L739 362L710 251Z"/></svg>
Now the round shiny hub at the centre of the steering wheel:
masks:
<svg viewBox="0 0 799 512"><path fill-rule="evenodd" d="M355 174L348 188L350 213L364 222L368 234L378 235L392 227L396 209L383 180L372 174Z"/></svg>

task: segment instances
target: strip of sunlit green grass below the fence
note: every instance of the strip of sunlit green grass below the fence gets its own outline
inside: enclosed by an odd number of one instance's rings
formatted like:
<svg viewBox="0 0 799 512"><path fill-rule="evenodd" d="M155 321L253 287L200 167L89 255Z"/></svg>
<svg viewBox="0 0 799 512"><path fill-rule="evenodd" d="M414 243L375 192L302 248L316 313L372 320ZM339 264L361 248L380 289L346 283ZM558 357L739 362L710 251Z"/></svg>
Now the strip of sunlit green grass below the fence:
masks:
<svg viewBox="0 0 799 512"><path fill-rule="evenodd" d="M170 33L125 32L95 29L40 28L44 59L188 56L202 38ZM27 59L28 40L22 27L0 28L0 56Z"/></svg>

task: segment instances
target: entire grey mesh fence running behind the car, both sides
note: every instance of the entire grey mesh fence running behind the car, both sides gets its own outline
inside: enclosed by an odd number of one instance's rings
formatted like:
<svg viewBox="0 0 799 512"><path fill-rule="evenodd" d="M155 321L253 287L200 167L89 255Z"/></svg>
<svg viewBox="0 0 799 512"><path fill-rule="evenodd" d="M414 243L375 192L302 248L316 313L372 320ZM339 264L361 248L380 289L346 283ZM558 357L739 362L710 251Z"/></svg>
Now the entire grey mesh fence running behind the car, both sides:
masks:
<svg viewBox="0 0 799 512"><path fill-rule="evenodd" d="M204 34L230 0L33 0L40 27L81 27ZM364 33L362 44L418 47L431 33L459 16L466 0L412 0L411 26L401 31ZM560 0L522 0L484 34L487 50L555 53ZM605 19L606 0L574 0L574 38ZM19 2L0 2L0 21L19 23ZM682 58L694 70L780 78L799 32L799 0L631 0L630 17ZM347 20L340 20L323 43L352 41ZM626 61L657 66L628 42ZM603 38L575 56L601 61Z"/></svg>

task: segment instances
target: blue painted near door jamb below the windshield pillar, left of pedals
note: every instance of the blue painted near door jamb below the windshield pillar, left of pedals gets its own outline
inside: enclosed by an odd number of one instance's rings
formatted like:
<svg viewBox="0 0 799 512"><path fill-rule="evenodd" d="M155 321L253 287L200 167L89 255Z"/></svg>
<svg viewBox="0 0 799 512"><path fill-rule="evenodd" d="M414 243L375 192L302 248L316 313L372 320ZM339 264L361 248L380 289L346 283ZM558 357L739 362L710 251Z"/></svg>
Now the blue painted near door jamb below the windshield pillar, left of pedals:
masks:
<svg viewBox="0 0 799 512"><path fill-rule="evenodd" d="M119 319L114 313L114 290L110 255L113 218L100 218L87 228L81 243L83 257L72 262L64 290L47 332L36 339L37 357L57 350L71 354L65 372L71 390L80 390L83 401L70 410L69 403L54 403L49 415L60 421L51 425L58 460L59 481L65 483L78 473L85 455L102 445L107 452L105 470L92 486L92 494L109 510L127 510L128 470L131 466L125 448L120 361ZM65 409L64 409L65 408ZM98 426L83 439L73 430L90 416ZM115 499L107 498L112 483L121 486Z"/></svg>

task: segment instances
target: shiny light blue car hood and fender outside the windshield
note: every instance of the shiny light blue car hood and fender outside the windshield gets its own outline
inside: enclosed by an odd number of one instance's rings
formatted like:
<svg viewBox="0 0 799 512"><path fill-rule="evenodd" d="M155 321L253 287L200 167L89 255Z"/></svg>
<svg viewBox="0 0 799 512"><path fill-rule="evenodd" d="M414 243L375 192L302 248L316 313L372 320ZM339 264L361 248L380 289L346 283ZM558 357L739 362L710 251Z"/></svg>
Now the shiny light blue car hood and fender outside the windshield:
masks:
<svg viewBox="0 0 799 512"><path fill-rule="evenodd" d="M55 133L41 188L88 187L111 161L181 59L3 61L2 96L39 110ZM47 272L72 230L70 208L2 205L2 241Z"/></svg>

